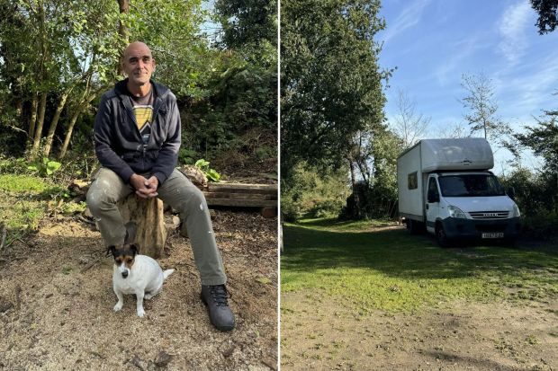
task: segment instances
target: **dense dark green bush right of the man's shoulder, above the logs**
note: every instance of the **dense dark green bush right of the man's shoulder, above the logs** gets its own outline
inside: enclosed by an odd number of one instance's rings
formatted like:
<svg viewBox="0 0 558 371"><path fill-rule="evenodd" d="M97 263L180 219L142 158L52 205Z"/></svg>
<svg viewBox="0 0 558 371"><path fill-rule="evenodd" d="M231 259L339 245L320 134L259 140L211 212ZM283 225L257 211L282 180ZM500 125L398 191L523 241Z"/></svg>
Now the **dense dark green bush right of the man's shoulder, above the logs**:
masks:
<svg viewBox="0 0 558 371"><path fill-rule="evenodd" d="M276 73L234 56L221 62L206 85L210 96L193 102L183 119L184 146L206 158L234 152L257 161L258 147L276 147Z"/></svg>

